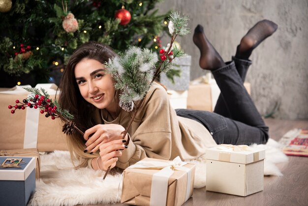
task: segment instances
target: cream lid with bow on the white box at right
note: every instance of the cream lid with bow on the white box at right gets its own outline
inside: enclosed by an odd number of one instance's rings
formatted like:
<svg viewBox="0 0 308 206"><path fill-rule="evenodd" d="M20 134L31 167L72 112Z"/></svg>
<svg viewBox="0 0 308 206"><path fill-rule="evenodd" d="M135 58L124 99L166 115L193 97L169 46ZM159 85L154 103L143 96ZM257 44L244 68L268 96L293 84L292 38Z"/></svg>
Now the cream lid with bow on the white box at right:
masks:
<svg viewBox="0 0 308 206"><path fill-rule="evenodd" d="M249 164L265 159L265 150L247 145L220 144L206 149L206 159Z"/></svg>

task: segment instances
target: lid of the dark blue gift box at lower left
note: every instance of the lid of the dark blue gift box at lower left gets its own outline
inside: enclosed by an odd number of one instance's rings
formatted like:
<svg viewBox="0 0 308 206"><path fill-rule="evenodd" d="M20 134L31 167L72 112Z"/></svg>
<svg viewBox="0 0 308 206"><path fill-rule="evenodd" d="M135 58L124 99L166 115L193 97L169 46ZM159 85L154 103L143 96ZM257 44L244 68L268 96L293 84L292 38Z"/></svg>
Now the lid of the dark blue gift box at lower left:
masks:
<svg viewBox="0 0 308 206"><path fill-rule="evenodd" d="M9 164L7 159L22 159L19 164L20 168L3 168L0 167L0 180L19 180L25 181L35 168L35 158L32 157L8 157L1 156L0 164Z"/></svg>

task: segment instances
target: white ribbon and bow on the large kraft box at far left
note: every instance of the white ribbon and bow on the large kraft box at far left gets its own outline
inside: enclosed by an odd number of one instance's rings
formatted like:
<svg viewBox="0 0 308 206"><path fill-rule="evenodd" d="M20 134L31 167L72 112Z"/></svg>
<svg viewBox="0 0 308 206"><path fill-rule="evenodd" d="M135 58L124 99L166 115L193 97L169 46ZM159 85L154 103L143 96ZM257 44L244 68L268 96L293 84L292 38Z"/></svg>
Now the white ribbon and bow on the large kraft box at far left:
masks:
<svg viewBox="0 0 308 206"><path fill-rule="evenodd" d="M31 87L31 85L18 86L0 92L1 94L14 94L22 95L28 94L24 88ZM37 84L35 88L43 88L49 95L55 95L57 91L56 84ZM30 94L28 95L28 97ZM38 133L38 118L39 118L39 109L31 109L27 107L26 109L26 122L25 122L25 134L24 134L24 148L35 148L37 147L37 133Z"/></svg>

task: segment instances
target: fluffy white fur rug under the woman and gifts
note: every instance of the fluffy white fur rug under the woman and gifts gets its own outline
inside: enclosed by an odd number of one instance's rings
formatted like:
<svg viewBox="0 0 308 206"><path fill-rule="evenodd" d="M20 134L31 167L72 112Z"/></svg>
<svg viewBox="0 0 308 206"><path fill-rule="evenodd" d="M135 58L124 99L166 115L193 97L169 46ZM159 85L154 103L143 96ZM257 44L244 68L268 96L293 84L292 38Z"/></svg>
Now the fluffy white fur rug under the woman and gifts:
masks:
<svg viewBox="0 0 308 206"><path fill-rule="evenodd" d="M286 162L288 158L281 152L280 145L275 140L269 139L267 144L251 146L266 149L264 175L282 175L275 164ZM205 158L189 162L196 164L194 187L204 187ZM36 181L36 190L28 205L74 206L120 202L117 194L121 173L108 173L105 180L102 179L103 175L104 172L88 168L74 170L67 151L41 155L41 178Z"/></svg>

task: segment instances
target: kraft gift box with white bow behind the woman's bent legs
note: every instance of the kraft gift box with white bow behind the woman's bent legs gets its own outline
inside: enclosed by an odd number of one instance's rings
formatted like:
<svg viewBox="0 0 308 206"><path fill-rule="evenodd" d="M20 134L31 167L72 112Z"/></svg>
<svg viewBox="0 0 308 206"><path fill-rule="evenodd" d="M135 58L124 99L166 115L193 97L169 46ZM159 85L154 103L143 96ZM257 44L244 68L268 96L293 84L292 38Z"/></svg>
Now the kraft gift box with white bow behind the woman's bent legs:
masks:
<svg viewBox="0 0 308 206"><path fill-rule="evenodd" d="M244 87L250 94L250 83L245 82ZM219 94L215 79L209 75L195 79L189 84L187 109L214 111Z"/></svg>

